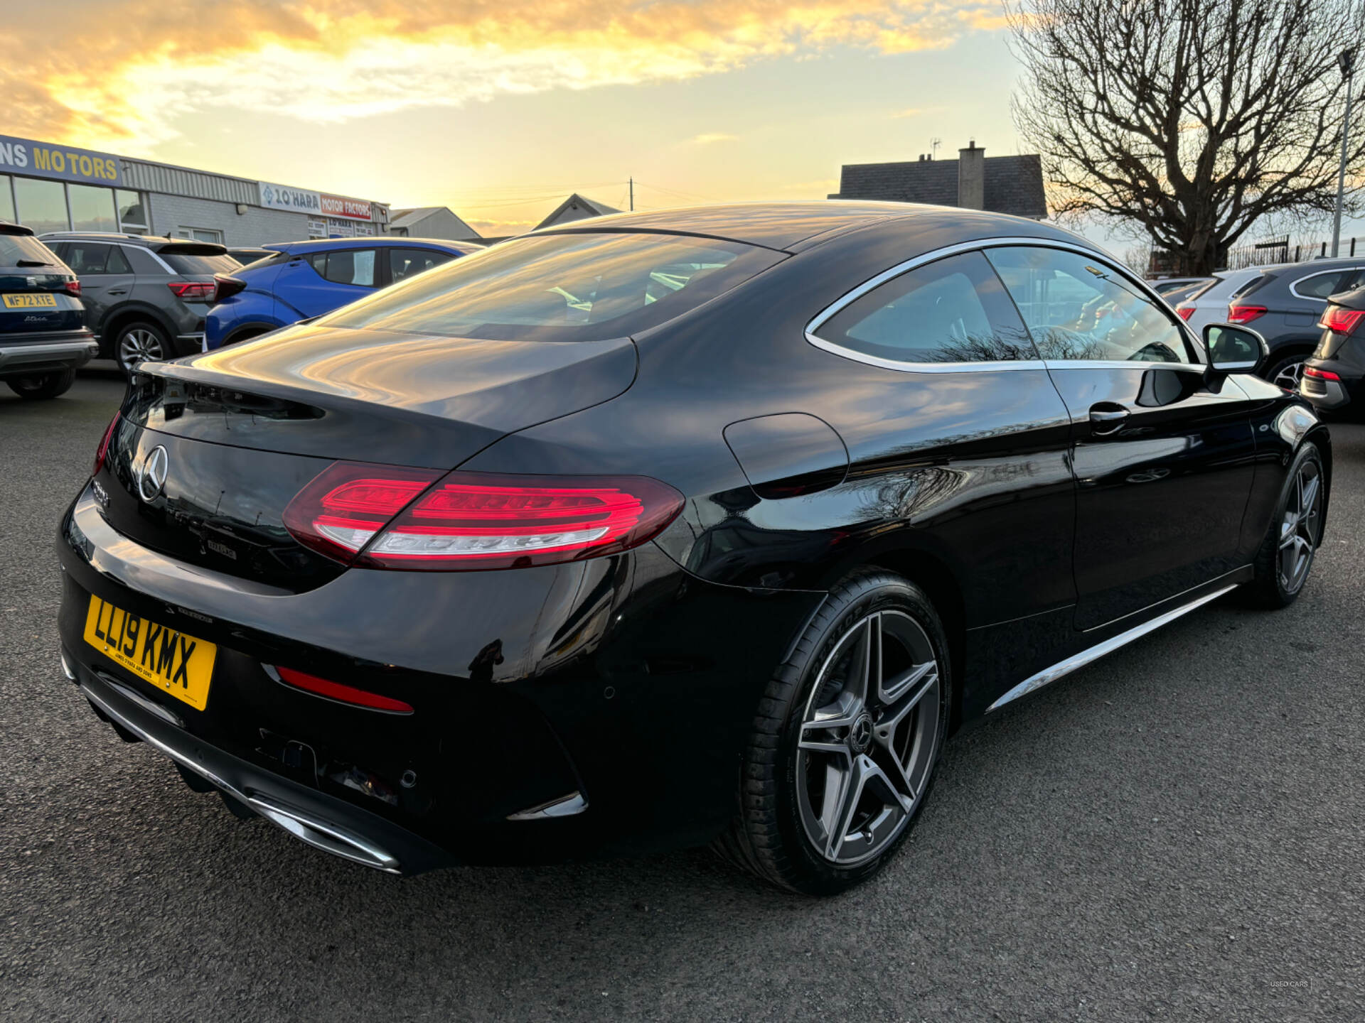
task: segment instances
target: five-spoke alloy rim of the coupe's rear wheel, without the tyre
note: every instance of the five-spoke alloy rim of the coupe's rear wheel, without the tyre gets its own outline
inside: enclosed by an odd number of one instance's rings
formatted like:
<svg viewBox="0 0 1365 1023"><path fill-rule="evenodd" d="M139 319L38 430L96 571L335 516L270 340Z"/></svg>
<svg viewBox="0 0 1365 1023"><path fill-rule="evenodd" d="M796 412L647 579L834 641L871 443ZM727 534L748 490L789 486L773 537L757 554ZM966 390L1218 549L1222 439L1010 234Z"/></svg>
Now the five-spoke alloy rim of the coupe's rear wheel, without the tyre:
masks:
<svg viewBox="0 0 1365 1023"><path fill-rule="evenodd" d="M815 851L853 866L909 822L942 742L938 660L902 611L850 627L820 666L797 738L797 802Z"/></svg>

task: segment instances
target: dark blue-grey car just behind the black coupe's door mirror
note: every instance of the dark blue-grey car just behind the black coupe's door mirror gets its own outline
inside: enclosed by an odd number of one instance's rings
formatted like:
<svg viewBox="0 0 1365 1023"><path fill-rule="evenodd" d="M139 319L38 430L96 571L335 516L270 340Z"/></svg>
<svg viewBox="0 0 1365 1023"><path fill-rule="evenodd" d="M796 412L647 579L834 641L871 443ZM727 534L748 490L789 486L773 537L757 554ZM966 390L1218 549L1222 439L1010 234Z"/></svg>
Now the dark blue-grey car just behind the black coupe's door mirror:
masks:
<svg viewBox="0 0 1365 1023"><path fill-rule="evenodd" d="M1267 266L1227 307L1227 321L1256 330L1271 355L1260 375L1298 390L1304 360L1317 348L1327 296L1365 284L1365 255Z"/></svg>

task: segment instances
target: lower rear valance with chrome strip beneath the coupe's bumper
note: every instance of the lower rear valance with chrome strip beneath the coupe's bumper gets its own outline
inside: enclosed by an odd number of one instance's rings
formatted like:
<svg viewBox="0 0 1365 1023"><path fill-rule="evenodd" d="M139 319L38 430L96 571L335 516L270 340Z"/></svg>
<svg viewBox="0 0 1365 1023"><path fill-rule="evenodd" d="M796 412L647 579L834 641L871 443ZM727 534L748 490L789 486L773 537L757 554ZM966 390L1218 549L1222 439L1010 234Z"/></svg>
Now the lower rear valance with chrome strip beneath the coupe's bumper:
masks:
<svg viewBox="0 0 1365 1023"><path fill-rule="evenodd" d="M390 874L414 874L456 862L392 821L195 739L164 720L154 711L156 704L109 675L82 666L67 651L61 660L100 717L142 739L300 842Z"/></svg>

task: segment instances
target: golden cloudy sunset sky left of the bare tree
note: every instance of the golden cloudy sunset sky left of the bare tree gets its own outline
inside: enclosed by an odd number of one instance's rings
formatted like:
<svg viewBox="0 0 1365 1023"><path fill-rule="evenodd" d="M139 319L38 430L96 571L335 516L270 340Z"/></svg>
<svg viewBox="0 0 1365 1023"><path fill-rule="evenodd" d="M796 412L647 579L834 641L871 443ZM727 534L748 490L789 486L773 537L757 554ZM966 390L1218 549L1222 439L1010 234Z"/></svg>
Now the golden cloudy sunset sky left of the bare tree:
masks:
<svg viewBox="0 0 1365 1023"><path fill-rule="evenodd" d="M823 198L940 138L1020 151L995 0L7 4L0 134L448 205Z"/></svg>

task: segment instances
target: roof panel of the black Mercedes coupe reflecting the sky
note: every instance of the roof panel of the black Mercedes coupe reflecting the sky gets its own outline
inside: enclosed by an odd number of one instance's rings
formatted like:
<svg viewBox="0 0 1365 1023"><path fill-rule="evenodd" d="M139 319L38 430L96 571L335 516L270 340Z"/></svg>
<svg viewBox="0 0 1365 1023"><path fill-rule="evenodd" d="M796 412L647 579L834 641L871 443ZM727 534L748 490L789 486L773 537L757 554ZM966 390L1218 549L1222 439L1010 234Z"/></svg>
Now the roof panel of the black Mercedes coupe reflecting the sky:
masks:
<svg viewBox="0 0 1365 1023"><path fill-rule="evenodd" d="M616 213L568 224L557 224L532 235L564 235L607 231L643 231L678 235L702 235L729 239L767 248L790 250L822 235L842 233L879 221L916 218L942 220L947 216L971 217L975 222L998 221L1002 235L1036 233L1037 221L1005 213L968 210L957 206L930 206L909 202L857 202L819 199L808 202L753 202L719 206L685 206L648 213ZM1021 232L1021 228L1024 231ZM1055 228L1058 236L1074 237Z"/></svg>

